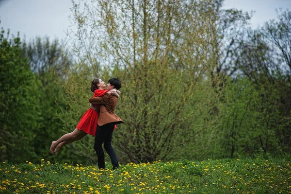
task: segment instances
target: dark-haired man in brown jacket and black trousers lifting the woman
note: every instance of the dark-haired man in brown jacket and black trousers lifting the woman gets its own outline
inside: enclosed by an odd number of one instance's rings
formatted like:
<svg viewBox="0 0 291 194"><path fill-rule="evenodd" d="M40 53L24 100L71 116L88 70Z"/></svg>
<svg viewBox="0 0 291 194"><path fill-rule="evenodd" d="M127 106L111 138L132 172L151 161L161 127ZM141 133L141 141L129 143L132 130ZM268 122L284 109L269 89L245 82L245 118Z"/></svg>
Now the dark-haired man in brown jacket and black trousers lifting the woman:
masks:
<svg viewBox="0 0 291 194"><path fill-rule="evenodd" d="M121 81L117 78L111 78L107 84L107 90L121 88ZM99 104L100 112L98 116L98 126L95 135L94 149L98 157L98 168L105 168L104 152L102 149L102 143L108 153L113 170L119 167L116 153L111 145L114 125L123 123L123 121L115 114L114 110L117 105L118 98L111 94L105 94L100 97L90 98L91 104Z"/></svg>

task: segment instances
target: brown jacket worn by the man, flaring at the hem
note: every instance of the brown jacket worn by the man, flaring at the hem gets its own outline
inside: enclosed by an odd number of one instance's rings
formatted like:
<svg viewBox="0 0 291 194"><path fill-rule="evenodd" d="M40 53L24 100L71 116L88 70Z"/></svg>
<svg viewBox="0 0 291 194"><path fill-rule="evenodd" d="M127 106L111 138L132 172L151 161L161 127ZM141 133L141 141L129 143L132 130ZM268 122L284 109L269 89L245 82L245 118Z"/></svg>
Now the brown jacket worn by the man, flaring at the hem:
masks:
<svg viewBox="0 0 291 194"><path fill-rule="evenodd" d="M123 121L115 114L114 110L117 105L118 98L111 94L105 94L100 97L92 97L89 102L100 105L97 123L102 126L107 123L123 123Z"/></svg>

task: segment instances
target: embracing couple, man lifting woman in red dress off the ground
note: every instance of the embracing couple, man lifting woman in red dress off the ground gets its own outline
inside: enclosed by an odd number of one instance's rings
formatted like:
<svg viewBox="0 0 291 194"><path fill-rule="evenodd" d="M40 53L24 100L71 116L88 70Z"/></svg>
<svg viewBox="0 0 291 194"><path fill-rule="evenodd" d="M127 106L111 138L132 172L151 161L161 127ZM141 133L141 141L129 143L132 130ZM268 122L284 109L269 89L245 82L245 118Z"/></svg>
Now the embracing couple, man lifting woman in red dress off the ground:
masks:
<svg viewBox="0 0 291 194"><path fill-rule="evenodd" d="M98 168L105 168L103 143L111 159L113 170L119 167L111 141L116 124L123 123L114 113L120 94L118 89L121 88L121 81L117 78L111 78L107 83L107 90L105 90L105 87L105 82L99 78L92 81L90 89L94 92L94 95L89 99L91 107L84 113L73 132L63 135L57 141L52 141L49 148L51 154L56 155L65 144L81 140L87 134L90 134L95 136L94 149L98 158Z"/></svg>

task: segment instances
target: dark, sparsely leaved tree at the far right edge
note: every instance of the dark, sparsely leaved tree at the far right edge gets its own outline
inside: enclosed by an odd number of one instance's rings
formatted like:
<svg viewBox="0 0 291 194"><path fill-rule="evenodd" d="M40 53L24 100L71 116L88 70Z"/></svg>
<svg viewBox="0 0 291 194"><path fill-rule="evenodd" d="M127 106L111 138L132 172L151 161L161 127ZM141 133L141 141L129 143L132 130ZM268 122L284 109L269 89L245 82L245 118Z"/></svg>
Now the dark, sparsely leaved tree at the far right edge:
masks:
<svg viewBox="0 0 291 194"><path fill-rule="evenodd" d="M288 41L290 38L288 39L288 27L284 28L288 24L288 13L284 12L278 18L280 18L279 22L271 20L258 30L247 31L236 53L235 66L238 72L255 83L260 93L262 107L266 106L261 109L264 112L262 117L265 118L265 122L261 125L269 123L268 126L277 128L274 132L276 138L281 143L282 150L289 152L290 124L288 121L291 113L291 87ZM274 97L274 90L278 94L276 97ZM274 113L276 113L276 119L266 118ZM264 148L264 151L266 150L268 149Z"/></svg>

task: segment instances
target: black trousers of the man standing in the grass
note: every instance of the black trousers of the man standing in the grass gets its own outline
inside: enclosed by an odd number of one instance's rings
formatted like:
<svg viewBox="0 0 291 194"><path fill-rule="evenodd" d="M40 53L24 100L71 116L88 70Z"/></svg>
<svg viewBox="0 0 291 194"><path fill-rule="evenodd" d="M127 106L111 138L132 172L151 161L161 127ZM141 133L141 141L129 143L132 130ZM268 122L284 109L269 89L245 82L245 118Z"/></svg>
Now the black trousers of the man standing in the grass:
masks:
<svg viewBox="0 0 291 194"><path fill-rule="evenodd" d="M105 168L104 152L102 149L102 143L104 142L104 148L111 159L113 170L118 168L118 159L115 151L111 145L112 134L114 130L114 123L107 123L102 126L97 126L97 131L94 141L94 149L98 157L98 168Z"/></svg>

